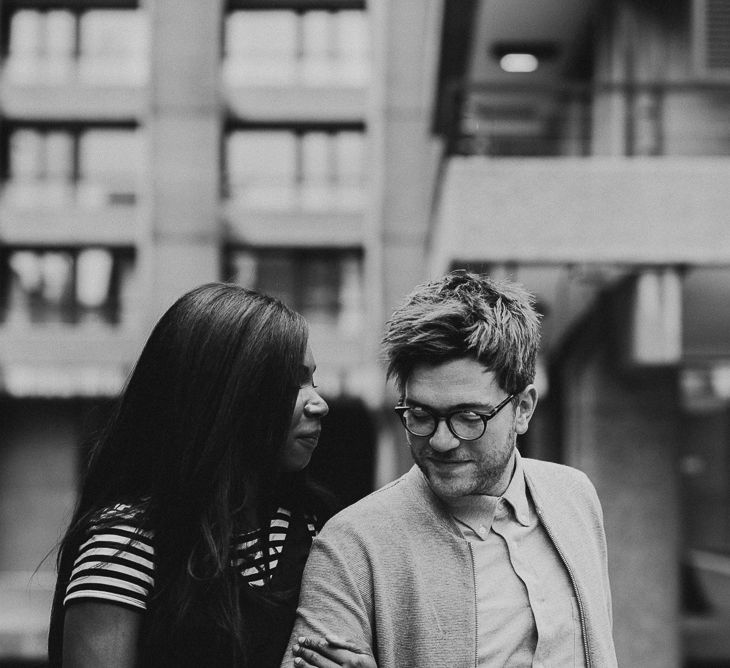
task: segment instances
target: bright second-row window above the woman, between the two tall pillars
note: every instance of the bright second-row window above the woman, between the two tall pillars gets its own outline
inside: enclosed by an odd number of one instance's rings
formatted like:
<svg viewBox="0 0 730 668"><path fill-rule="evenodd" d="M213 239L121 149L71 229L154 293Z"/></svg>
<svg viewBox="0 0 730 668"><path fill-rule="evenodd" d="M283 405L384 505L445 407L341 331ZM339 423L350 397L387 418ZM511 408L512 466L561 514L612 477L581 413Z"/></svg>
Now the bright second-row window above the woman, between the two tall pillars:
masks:
<svg viewBox="0 0 730 668"><path fill-rule="evenodd" d="M360 130L235 130L226 140L228 195L265 210L357 211L364 153Z"/></svg>

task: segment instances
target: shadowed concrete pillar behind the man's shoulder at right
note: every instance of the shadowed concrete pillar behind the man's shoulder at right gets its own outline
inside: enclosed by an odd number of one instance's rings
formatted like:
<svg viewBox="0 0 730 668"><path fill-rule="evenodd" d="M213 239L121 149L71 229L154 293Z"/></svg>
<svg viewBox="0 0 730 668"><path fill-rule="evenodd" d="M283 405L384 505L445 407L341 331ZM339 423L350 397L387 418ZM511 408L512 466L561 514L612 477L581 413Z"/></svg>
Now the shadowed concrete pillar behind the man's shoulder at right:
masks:
<svg viewBox="0 0 730 668"><path fill-rule="evenodd" d="M599 304L560 364L565 463L603 504L619 665L680 665L676 371L622 366L623 293Z"/></svg>

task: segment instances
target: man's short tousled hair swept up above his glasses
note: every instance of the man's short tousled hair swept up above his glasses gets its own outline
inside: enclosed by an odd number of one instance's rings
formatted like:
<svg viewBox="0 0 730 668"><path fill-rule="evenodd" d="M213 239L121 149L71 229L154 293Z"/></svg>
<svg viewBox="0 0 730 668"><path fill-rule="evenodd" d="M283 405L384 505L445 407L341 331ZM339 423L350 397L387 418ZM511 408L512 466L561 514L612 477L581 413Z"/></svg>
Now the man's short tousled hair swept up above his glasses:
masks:
<svg viewBox="0 0 730 668"><path fill-rule="evenodd" d="M535 298L511 281L463 270L419 285L386 324L388 378L400 392L418 365L472 357L501 388L521 392L535 379L540 315Z"/></svg>

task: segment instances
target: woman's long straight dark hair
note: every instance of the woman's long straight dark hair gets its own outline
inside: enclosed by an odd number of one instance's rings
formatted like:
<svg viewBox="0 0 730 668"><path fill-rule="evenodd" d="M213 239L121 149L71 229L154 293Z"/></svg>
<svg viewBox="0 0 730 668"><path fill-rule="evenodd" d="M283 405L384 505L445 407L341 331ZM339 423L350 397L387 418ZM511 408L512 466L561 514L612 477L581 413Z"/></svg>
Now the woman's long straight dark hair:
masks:
<svg viewBox="0 0 730 668"><path fill-rule="evenodd" d="M61 663L63 597L85 530L118 503L138 508L154 532L142 663L175 664L200 643L203 619L231 664L245 665L231 539L267 521L307 336L278 300L221 283L188 292L162 316L93 448L61 542L51 665Z"/></svg>

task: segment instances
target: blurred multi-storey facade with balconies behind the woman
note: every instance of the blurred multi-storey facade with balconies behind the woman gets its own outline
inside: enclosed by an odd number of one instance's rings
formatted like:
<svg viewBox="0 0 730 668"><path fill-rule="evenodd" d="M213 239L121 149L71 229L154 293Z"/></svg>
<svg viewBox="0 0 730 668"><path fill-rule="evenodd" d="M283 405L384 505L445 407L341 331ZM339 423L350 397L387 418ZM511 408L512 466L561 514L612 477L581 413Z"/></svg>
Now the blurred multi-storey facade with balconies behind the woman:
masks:
<svg viewBox="0 0 730 668"><path fill-rule="evenodd" d="M353 0L9 0L0 53L0 660L38 659L88 444L187 289L300 311L372 469L371 38Z"/></svg>

